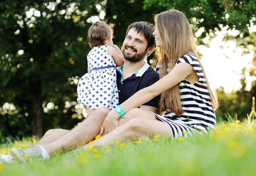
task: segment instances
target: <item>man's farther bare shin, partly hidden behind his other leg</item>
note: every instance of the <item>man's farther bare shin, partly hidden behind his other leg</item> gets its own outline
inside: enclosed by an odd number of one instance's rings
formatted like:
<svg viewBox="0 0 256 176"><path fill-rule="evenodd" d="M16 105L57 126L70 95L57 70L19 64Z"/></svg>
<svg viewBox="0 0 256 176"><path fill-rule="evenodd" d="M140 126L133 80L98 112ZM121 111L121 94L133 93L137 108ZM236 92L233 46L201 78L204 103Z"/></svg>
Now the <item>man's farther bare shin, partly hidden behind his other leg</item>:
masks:
<svg viewBox="0 0 256 176"><path fill-rule="evenodd" d="M64 129L51 129L48 130L44 136L35 144L33 145L46 145L46 144L50 144L56 140L58 140L59 138L61 138L62 136L66 135L70 130L64 130Z"/></svg>

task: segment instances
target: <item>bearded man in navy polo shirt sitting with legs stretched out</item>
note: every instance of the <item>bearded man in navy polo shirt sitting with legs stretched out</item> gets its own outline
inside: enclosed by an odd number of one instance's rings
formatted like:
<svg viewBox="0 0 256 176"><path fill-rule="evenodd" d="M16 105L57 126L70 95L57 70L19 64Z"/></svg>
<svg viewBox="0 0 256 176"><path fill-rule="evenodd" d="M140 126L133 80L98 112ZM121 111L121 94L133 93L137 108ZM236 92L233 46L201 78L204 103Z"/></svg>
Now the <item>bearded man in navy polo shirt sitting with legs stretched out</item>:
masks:
<svg viewBox="0 0 256 176"><path fill-rule="evenodd" d="M119 91L119 104L122 104L135 92L154 84L159 80L159 76L154 69L145 63L145 58L154 51L154 28L152 24L147 22L135 22L128 26L125 40L122 45L122 51L125 58L123 66L117 68L117 87ZM117 47L117 46L114 46ZM157 112L159 97L153 98L151 101L140 106L140 108L152 112ZM64 151L67 148L76 148L77 146L87 144L93 140L104 123L106 116L110 110L106 107L99 107L93 110L90 115L72 130L54 129L49 130L38 141L37 144L23 150L11 149L10 153L13 157L21 162L24 156L42 156L48 159L54 156L55 151ZM132 113L126 113L125 118L116 121L115 127L125 124L136 116ZM115 127L111 128L114 129ZM105 132L109 133L107 128Z"/></svg>

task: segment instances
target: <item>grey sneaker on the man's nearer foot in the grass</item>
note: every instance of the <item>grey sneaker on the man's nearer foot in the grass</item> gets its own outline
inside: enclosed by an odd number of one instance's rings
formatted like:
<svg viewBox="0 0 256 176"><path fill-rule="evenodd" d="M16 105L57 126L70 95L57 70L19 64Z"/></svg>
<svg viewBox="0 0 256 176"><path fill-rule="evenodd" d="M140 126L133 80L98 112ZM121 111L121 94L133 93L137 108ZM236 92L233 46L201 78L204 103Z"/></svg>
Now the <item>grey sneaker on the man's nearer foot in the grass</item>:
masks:
<svg viewBox="0 0 256 176"><path fill-rule="evenodd" d="M11 156L20 162L24 162L26 159L33 158L35 156L42 156L42 150L38 145L33 145L25 149L12 148L10 150Z"/></svg>

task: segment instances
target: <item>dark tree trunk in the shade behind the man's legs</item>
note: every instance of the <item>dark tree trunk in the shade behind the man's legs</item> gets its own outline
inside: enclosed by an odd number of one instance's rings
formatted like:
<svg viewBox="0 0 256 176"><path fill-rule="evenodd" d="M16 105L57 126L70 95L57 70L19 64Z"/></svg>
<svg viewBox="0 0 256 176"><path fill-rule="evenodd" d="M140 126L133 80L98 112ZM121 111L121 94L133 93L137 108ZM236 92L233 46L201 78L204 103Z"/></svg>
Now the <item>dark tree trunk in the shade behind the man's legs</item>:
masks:
<svg viewBox="0 0 256 176"><path fill-rule="evenodd" d="M43 136L43 108L42 108L42 83L41 81L33 82L32 91L32 135Z"/></svg>

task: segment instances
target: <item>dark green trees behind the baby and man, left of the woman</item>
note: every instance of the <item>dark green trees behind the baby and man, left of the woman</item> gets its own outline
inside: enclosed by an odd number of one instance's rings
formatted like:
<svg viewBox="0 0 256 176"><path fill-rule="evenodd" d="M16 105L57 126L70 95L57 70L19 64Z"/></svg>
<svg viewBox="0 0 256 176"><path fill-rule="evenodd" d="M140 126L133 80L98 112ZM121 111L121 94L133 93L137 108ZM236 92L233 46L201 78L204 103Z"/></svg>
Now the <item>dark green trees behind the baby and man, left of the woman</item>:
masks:
<svg viewBox="0 0 256 176"><path fill-rule="evenodd" d="M153 22L152 12L142 6L140 1L125 0L1 1L2 135L42 136L49 128L73 127L79 121L71 117L76 114L77 80L87 72L90 48L86 38L91 19L100 16L116 24L114 42L121 46L129 24ZM6 102L14 104L17 112L4 111ZM49 102L54 108L44 111ZM8 125L10 121L17 123Z"/></svg>

